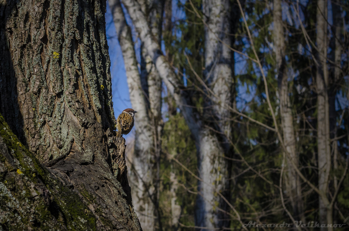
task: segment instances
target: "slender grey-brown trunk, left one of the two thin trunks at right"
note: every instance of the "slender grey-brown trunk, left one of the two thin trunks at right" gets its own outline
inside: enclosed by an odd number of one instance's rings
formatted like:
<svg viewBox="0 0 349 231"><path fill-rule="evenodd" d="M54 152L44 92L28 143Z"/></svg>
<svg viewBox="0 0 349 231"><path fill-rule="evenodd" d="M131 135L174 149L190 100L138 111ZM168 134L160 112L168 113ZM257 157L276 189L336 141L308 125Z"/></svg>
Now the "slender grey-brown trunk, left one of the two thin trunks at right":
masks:
<svg viewBox="0 0 349 231"><path fill-rule="evenodd" d="M284 185L285 192L290 198L293 215L295 219L304 221L303 200L299 176L291 162L298 167L298 155L296 152L295 128L293 124L293 114L290 103L291 84L287 76L287 64L285 59L285 36L282 25L282 10L281 0L274 0L273 8L274 21L274 52L276 60L276 73L279 82L279 97L280 97L280 117L283 133L283 140L286 147L285 175Z"/></svg>

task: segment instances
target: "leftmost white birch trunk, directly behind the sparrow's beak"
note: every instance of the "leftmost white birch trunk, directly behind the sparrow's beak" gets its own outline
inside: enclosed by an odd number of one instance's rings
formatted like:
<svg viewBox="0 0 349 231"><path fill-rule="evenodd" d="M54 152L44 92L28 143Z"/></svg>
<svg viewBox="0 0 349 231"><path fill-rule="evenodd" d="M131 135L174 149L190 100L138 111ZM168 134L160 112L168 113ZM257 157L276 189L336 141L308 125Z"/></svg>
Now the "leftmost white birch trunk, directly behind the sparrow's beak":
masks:
<svg viewBox="0 0 349 231"><path fill-rule="evenodd" d="M124 57L128 89L133 109L138 111L135 116L135 149L129 159L131 171L129 182L132 188L134 209L139 217L143 230L155 230L154 203L151 197L155 192L153 184L152 150L154 147L153 133L140 74L137 67L131 31L126 24L119 0L109 0L114 25L118 34L122 55Z"/></svg>

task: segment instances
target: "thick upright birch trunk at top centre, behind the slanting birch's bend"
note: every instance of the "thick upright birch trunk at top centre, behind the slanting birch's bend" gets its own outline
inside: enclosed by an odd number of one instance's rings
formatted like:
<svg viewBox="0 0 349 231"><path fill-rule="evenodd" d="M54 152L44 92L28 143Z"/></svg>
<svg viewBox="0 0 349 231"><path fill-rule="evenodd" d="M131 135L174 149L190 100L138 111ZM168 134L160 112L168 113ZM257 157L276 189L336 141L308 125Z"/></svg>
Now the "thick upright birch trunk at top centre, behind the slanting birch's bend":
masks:
<svg viewBox="0 0 349 231"><path fill-rule="evenodd" d="M205 21L205 78L216 95L213 111L220 130L231 137L230 110L232 102L233 73L231 66L230 1L203 0ZM223 43L224 44L223 44Z"/></svg>

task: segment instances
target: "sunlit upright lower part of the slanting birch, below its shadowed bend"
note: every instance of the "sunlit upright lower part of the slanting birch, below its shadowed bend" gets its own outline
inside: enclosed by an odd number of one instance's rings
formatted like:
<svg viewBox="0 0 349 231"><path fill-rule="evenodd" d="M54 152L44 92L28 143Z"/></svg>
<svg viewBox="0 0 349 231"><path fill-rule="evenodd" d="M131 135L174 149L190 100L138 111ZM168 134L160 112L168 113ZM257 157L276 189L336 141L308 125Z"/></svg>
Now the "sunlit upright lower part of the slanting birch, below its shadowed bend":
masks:
<svg viewBox="0 0 349 231"><path fill-rule="evenodd" d="M198 166L201 181L199 181L199 195L196 201L195 225L207 229L221 228L224 225L222 214L218 210L222 207L220 196L223 192L228 175L227 163L224 160L223 148L218 143L215 134L209 129L201 129L196 139L198 149Z"/></svg>

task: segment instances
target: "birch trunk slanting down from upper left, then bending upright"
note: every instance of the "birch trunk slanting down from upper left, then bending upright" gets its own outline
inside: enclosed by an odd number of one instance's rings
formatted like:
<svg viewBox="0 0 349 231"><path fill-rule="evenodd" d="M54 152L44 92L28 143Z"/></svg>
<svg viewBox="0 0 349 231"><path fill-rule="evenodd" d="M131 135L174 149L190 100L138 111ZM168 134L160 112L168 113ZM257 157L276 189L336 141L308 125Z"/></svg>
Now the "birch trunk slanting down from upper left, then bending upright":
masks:
<svg viewBox="0 0 349 231"><path fill-rule="evenodd" d="M152 38L151 30L147 24L141 7L139 4L132 0L124 0L124 3L128 13L132 19L133 25L139 33L140 39L144 43L144 47L147 48L148 54L152 58L161 79L166 84L168 92L173 96L176 104L181 110L188 127L195 137L196 147L199 153L200 177L203 179L203 183L200 184L201 199L198 201L198 213L197 224L203 224L208 229L213 229L220 225L220 219L217 216L217 191L224 190L224 178L226 166L223 161L223 149L220 147L216 134L212 134L211 131L202 125L202 122L195 118L191 107L187 106L187 99L184 97L183 92L180 90L180 82L177 79L176 74L173 72L169 63L165 60L161 53L159 45ZM201 127L202 125L202 127ZM218 166L221 167L221 171L218 171ZM218 202L219 204L219 202ZM220 205L218 205L220 206Z"/></svg>

